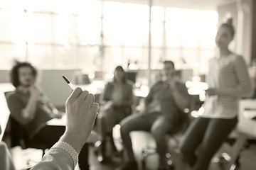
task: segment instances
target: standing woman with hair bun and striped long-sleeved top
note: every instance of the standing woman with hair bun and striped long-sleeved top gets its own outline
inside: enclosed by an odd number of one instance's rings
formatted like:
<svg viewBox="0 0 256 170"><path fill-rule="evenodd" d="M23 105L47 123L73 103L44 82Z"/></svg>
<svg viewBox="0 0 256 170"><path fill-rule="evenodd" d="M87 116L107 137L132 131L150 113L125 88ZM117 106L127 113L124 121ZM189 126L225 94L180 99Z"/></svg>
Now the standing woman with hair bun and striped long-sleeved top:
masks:
<svg viewBox="0 0 256 170"><path fill-rule="evenodd" d="M252 94L245 60L228 49L234 34L231 18L218 28L218 55L209 61L204 113L193 120L181 143L183 159L193 170L208 169L210 159L238 123L240 98Z"/></svg>

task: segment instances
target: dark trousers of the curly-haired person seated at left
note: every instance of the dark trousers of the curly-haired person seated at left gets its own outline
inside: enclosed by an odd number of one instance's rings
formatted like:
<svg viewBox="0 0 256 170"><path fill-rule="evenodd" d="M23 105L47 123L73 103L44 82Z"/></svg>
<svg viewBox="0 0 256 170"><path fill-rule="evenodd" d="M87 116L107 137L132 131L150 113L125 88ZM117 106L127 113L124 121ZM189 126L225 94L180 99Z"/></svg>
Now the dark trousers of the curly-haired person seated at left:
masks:
<svg viewBox="0 0 256 170"><path fill-rule="evenodd" d="M65 126L46 126L42 128L36 135L33 137L33 141L43 142L48 145L49 149L52 147L55 142L58 142L60 137L65 132ZM82 150L78 157L78 163L81 170L89 170L88 164L88 145L85 144L82 147Z"/></svg>

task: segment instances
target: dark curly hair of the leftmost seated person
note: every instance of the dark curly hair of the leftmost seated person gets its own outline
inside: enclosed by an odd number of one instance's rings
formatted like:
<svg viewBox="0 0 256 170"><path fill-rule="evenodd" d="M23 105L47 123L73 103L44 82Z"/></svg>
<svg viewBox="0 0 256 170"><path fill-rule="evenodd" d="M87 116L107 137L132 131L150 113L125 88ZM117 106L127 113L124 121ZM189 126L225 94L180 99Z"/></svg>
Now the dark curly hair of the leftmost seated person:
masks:
<svg viewBox="0 0 256 170"><path fill-rule="evenodd" d="M15 87L20 85L20 81L18 79L18 69L21 67L30 67L32 69L33 76L36 78L38 72L35 67L33 67L29 62L17 62L14 64L10 72L11 84Z"/></svg>

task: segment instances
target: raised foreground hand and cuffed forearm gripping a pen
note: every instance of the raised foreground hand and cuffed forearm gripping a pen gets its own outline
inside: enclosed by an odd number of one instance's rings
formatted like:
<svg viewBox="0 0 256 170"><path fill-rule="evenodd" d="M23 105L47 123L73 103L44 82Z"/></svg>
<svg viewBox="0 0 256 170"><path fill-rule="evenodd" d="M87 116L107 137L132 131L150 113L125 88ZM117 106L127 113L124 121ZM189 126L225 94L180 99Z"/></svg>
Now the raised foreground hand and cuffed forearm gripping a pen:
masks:
<svg viewBox="0 0 256 170"><path fill-rule="evenodd" d="M43 157L36 169L75 169L78 154L95 124L98 103L93 94L76 88L65 103L67 113L66 130L59 142Z"/></svg>

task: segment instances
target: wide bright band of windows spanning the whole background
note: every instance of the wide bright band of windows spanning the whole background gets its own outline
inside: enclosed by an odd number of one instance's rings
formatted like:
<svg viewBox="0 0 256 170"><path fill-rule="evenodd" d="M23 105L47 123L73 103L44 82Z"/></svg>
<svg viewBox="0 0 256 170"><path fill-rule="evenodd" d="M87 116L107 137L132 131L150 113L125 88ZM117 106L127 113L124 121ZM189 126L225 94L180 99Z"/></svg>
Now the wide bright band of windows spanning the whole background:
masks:
<svg viewBox="0 0 256 170"><path fill-rule="evenodd" d="M61 5L60 5L61 4ZM6 17L8 16L8 17ZM14 59L41 68L79 67L85 72L147 69L149 6L99 0L0 0L0 69ZM201 63L215 52L216 11L151 8L151 68Z"/></svg>

